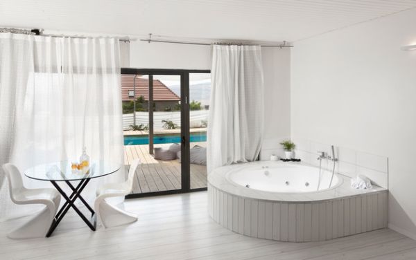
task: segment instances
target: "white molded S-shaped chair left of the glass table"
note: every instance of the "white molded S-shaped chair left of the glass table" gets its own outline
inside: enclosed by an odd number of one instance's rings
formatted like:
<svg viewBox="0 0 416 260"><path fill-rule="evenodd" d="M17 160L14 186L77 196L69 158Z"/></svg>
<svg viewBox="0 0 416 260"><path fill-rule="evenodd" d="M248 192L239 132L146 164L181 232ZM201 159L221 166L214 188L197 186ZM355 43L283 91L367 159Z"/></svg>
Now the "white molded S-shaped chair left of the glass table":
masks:
<svg viewBox="0 0 416 260"><path fill-rule="evenodd" d="M43 204L46 207L28 222L8 233L10 239L31 239L44 237L51 228L60 205L60 194L55 189L26 189L19 169L11 163L3 165L9 183L10 198L19 205Z"/></svg>

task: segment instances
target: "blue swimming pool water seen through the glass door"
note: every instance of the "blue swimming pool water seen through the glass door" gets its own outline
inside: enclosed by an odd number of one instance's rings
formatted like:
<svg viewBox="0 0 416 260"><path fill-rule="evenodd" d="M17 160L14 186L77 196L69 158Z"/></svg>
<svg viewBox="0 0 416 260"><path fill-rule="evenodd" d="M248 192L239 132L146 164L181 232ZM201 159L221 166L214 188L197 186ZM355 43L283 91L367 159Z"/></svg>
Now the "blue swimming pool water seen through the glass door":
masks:
<svg viewBox="0 0 416 260"><path fill-rule="evenodd" d="M191 142L206 142L207 133L191 134ZM124 145L148 145L148 136L124 136ZM180 136L153 136L154 144L180 143Z"/></svg>

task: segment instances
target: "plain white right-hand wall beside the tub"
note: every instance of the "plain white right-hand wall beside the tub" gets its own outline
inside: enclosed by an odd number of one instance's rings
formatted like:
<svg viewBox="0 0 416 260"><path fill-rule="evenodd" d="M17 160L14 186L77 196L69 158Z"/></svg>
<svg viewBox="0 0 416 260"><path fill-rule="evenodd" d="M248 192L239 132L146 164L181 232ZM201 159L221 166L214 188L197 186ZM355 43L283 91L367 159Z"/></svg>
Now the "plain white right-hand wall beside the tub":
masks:
<svg viewBox="0 0 416 260"><path fill-rule="evenodd" d="M416 239L416 10L295 43L293 138L389 158L389 226Z"/></svg>

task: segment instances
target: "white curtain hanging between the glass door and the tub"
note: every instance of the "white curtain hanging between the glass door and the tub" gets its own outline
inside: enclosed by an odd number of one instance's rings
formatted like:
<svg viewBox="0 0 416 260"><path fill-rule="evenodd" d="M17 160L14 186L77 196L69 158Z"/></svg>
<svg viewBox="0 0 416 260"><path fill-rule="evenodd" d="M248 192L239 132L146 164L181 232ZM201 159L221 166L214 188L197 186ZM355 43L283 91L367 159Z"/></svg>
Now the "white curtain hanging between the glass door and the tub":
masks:
<svg viewBox="0 0 416 260"><path fill-rule="evenodd" d="M207 167L256 160L263 136L260 46L214 45Z"/></svg>

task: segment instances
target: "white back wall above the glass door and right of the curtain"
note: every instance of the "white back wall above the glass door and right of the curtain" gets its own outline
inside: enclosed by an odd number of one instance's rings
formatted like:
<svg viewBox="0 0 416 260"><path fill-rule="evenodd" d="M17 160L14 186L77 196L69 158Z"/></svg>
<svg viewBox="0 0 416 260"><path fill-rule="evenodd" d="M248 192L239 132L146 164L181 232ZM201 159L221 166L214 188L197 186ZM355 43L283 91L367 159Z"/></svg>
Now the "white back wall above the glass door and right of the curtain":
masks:
<svg viewBox="0 0 416 260"><path fill-rule="evenodd" d="M265 136L261 158L279 152L279 142L291 134L289 48L262 48L264 70ZM211 69L211 47L162 44L144 41L130 43L132 68Z"/></svg>

